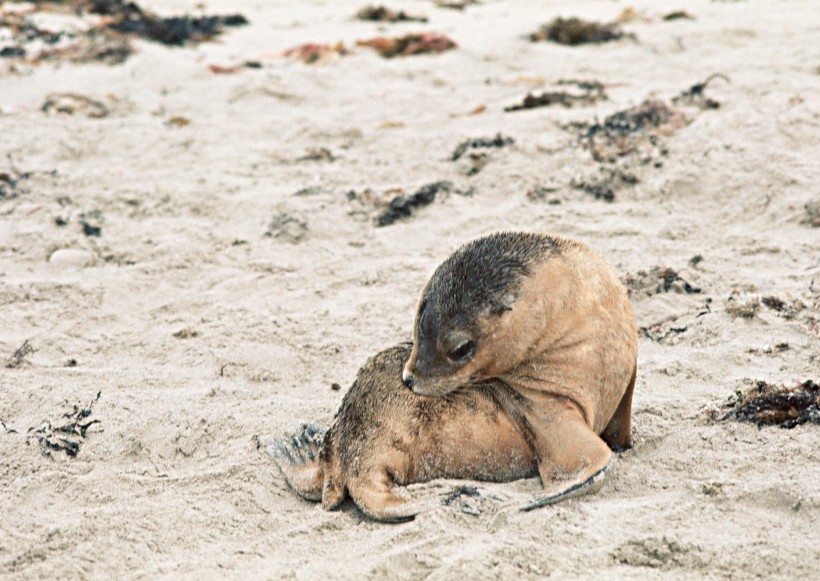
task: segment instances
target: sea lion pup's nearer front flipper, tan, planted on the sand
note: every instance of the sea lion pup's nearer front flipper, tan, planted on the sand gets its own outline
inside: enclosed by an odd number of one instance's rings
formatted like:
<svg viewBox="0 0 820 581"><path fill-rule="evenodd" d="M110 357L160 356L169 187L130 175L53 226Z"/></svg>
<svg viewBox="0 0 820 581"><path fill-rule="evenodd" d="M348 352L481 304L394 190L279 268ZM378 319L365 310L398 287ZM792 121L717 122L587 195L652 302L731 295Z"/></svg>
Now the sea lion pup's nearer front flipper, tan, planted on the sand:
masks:
<svg viewBox="0 0 820 581"><path fill-rule="evenodd" d="M572 401L549 394L531 399L535 405L525 415L544 492L522 510L597 492L613 460L609 446Z"/></svg>

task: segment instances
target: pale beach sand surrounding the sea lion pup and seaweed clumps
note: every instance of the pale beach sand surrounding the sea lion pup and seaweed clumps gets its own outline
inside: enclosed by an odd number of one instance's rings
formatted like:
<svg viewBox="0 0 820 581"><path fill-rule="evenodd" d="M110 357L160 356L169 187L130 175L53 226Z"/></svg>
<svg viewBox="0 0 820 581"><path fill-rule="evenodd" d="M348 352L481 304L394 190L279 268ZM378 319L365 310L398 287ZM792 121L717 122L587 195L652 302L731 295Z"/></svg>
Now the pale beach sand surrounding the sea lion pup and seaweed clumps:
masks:
<svg viewBox="0 0 820 581"><path fill-rule="evenodd" d="M0 370L0 419L17 431L0 429L0 577L817 578L818 427L705 414L744 378L818 379L820 229L802 223L820 196L816 2L391 2L430 23L387 26L352 20L362 4L210 2L251 25L197 48L137 42L120 66L0 78L0 172L7 155L33 172L0 200L0 356L35 349ZM522 39L557 15L610 20L630 5L652 18L626 25L638 42ZM675 8L696 20L659 19ZM357 48L323 66L277 56L410 30L460 48L393 60ZM264 67L207 68L245 60ZM661 167L635 161L640 182L611 204L570 187L597 164L567 122L717 72L731 78L707 89L721 107L687 109ZM504 113L536 77L597 79L609 100ZM112 113L47 115L54 92ZM166 125L174 115L190 124ZM516 142L476 176L449 160L497 132ZM295 161L315 147L338 159ZM346 196L445 179L474 195L385 228ZM561 203L530 201L538 184ZM293 196L307 187L318 191ZM99 238L80 225L94 210ZM279 212L306 221L301 240L264 236ZM296 498L258 442L327 425L365 359L409 338L434 267L498 229L575 237L624 274L668 266L703 289L635 297L639 325L676 316L686 331L641 339L634 449L597 495L530 513L515 506L535 480L479 485L479 516L441 505L454 482L414 486L434 508L394 526ZM735 318L733 289L806 307ZM98 391L79 455L42 455L26 430Z"/></svg>

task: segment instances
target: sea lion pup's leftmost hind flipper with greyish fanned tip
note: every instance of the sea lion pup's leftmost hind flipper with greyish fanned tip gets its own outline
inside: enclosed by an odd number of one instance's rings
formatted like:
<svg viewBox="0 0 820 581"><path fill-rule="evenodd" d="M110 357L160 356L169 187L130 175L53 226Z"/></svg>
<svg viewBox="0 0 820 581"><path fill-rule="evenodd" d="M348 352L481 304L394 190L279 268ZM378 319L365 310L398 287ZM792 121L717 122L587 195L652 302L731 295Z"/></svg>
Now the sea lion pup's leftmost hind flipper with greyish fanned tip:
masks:
<svg viewBox="0 0 820 581"><path fill-rule="evenodd" d="M274 459L282 476L293 491L312 501L322 500L324 470L319 463L319 448L324 429L314 424L302 424L299 433L289 438L277 438L268 444L268 454Z"/></svg>

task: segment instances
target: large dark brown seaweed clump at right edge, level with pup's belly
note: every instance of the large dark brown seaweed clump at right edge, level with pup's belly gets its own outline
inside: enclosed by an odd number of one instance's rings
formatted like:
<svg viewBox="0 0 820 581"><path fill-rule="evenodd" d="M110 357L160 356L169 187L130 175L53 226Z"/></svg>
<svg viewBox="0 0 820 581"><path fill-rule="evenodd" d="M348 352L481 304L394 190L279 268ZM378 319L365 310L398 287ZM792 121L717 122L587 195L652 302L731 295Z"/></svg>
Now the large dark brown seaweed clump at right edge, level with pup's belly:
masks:
<svg viewBox="0 0 820 581"><path fill-rule="evenodd" d="M729 411L722 413L726 408ZM750 389L737 391L710 415L720 421L735 419L759 427L791 429L806 423L820 424L820 385L811 379L792 387L756 381Z"/></svg>

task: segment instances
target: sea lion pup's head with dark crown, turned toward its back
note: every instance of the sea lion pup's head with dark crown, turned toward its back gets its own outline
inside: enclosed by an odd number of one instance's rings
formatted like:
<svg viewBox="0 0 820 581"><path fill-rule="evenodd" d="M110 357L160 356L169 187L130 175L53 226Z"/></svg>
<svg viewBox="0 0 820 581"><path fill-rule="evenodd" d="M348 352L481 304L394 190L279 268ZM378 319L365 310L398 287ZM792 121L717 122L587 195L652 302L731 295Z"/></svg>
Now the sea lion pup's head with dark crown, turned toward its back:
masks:
<svg viewBox="0 0 820 581"><path fill-rule="evenodd" d="M528 346L522 330L531 301L520 296L522 282L554 250L548 236L523 232L492 234L456 250L421 293L404 384L441 396L511 369L518 348Z"/></svg>

